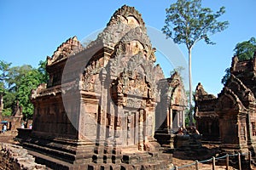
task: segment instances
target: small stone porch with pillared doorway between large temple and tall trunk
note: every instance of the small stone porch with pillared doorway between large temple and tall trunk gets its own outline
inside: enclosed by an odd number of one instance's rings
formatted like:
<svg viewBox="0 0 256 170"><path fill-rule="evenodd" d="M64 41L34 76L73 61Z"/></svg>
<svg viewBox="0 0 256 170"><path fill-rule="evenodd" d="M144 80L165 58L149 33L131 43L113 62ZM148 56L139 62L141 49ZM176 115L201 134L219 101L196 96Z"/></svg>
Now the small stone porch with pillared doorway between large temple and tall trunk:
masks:
<svg viewBox="0 0 256 170"><path fill-rule="evenodd" d="M161 89L160 103L155 110L156 132L154 137L162 146L173 148L173 133L178 127L185 127L184 111L187 107L187 97L182 78L177 72L172 77L158 82Z"/></svg>

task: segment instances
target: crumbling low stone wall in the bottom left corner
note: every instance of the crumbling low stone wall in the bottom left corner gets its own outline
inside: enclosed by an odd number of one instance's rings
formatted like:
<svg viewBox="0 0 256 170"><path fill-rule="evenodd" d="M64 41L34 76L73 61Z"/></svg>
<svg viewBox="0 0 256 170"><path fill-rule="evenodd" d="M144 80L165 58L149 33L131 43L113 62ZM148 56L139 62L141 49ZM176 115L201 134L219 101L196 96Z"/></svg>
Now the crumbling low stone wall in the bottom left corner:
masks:
<svg viewBox="0 0 256 170"><path fill-rule="evenodd" d="M47 169L35 162L35 158L19 145L0 143L0 170Z"/></svg>

